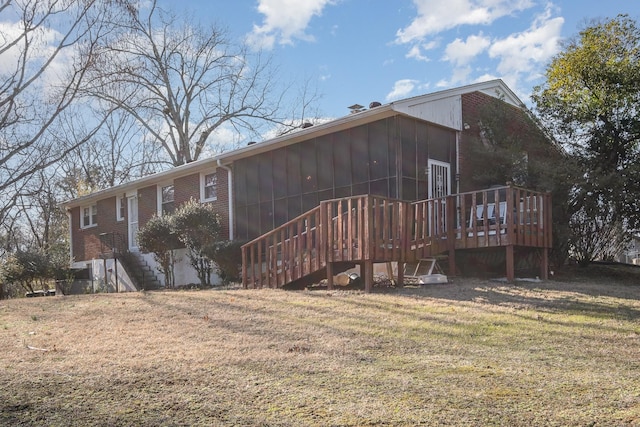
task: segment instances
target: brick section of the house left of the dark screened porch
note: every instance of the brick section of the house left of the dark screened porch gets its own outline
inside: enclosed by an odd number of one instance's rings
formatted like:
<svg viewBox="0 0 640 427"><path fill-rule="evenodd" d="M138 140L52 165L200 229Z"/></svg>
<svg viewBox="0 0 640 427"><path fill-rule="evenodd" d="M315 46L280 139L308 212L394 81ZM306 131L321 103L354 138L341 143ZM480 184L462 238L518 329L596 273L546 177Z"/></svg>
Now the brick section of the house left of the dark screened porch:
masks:
<svg viewBox="0 0 640 427"><path fill-rule="evenodd" d="M222 237L233 239L230 175L230 169L208 158L64 203L71 267L84 270L85 290L161 286L164 278L155 268L153 255L140 253L136 233L154 215L170 213L190 199L213 204L220 214ZM176 283L198 283L185 251L178 250L176 258Z"/></svg>

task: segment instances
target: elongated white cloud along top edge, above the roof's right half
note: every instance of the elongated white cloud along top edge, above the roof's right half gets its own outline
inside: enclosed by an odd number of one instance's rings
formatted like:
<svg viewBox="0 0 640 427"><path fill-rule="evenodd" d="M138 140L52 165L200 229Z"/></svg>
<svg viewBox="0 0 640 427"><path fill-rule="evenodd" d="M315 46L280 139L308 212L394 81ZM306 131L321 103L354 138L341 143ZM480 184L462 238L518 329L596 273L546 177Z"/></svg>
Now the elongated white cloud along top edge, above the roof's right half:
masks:
<svg viewBox="0 0 640 427"><path fill-rule="evenodd" d="M418 15L398 30L397 43L415 43L459 25L489 25L498 18L534 6L533 0L413 0Z"/></svg>

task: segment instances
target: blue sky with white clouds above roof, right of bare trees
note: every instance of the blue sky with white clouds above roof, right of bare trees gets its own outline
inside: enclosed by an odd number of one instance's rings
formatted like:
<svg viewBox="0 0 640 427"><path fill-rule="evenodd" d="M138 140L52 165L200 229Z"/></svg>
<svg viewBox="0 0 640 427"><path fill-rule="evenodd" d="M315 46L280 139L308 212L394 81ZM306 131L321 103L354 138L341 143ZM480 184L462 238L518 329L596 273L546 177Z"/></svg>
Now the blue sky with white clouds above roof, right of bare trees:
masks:
<svg viewBox="0 0 640 427"><path fill-rule="evenodd" d="M325 117L501 78L530 106L561 43L640 0L159 0L273 56L309 81Z"/></svg>

